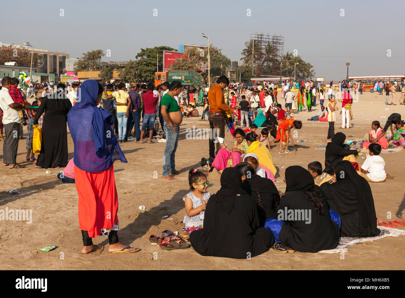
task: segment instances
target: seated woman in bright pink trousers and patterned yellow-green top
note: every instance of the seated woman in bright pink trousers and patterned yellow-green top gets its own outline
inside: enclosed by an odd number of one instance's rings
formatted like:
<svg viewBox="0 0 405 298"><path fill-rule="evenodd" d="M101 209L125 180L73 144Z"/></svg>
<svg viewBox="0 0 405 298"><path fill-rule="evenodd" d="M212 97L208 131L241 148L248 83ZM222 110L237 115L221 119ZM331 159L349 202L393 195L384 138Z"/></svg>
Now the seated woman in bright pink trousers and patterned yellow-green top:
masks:
<svg viewBox="0 0 405 298"><path fill-rule="evenodd" d="M227 167L234 167L241 161L242 154L245 154L248 149L248 145L245 139L245 133L242 129L235 129L233 133L235 137L235 143L232 149L228 148L225 144L220 144L221 149L215 156L212 166L208 167L208 170L212 172L213 168L218 171L223 171Z"/></svg>

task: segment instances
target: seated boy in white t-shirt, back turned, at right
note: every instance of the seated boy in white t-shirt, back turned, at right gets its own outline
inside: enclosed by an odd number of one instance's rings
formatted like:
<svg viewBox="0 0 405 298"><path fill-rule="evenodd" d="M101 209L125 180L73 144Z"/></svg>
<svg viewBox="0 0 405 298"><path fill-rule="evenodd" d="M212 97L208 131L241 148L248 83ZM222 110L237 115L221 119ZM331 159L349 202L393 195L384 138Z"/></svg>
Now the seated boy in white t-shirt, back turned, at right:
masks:
<svg viewBox="0 0 405 298"><path fill-rule="evenodd" d="M381 145L378 143L370 144L370 156L364 161L361 166L362 176L368 182L384 182L387 178L392 178L385 172L385 161L379 156L381 153Z"/></svg>

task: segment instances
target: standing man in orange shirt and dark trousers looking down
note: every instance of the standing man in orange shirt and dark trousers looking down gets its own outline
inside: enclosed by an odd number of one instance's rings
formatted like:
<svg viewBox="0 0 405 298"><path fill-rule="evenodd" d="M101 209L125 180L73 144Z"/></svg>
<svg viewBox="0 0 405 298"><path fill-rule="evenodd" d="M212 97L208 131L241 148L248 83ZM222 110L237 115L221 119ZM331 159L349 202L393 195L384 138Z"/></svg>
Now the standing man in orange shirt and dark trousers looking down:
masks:
<svg viewBox="0 0 405 298"><path fill-rule="evenodd" d="M212 86L208 91L208 120L209 128L211 131L218 132L218 137L225 138L225 114L232 114L233 109L225 104L225 97L222 90L226 88L229 84L229 79L222 75L217 79L217 83ZM215 158L215 155L220 150L220 144L217 143L217 148L215 151L214 141L216 138L211 135L209 138L209 157Z"/></svg>

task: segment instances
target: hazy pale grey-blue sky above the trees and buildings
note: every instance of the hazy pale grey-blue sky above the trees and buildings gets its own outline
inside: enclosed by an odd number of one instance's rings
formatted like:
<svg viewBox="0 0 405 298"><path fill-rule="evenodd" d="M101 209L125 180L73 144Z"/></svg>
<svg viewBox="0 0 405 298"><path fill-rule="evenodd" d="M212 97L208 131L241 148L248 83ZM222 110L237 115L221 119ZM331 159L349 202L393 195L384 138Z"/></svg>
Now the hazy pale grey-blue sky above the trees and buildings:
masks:
<svg viewBox="0 0 405 298"><path fill-rule="evenodd" d="M204 45L203 32L239 60L249 34L258 32L285 36L284 51L297 49L318 77L345 78L346 60L349 75L402 75L404 6L399 0L4 1L0 41L66 50L70 58L110 49L103 60L125 61L145 47Z"/></svg>

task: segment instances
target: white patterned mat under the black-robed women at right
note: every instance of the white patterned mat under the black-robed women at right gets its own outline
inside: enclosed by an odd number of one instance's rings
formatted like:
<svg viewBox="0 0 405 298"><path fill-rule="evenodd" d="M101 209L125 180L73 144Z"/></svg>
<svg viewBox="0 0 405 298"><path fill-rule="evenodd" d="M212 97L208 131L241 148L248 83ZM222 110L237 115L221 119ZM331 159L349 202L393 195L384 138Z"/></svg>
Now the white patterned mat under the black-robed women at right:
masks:
<svg viewBox="0 0 405 298"><path fill-rule="evenodd" d="M399 235L405 235L405 230L392 229L390 227L381 227L381 226L377 227L381 230L378 236L365 238L341 237L339 239L339 244L337 244L337 247L335 247L334 249L326 249L323 251L319 251L319 253L341 253L341 252L347 253L349 251L347 247L351 247L354 244L366 241L379 240L388 236L398 237Z"/></svg>

